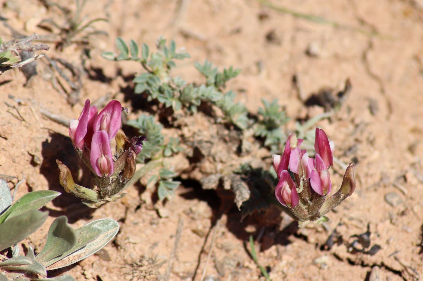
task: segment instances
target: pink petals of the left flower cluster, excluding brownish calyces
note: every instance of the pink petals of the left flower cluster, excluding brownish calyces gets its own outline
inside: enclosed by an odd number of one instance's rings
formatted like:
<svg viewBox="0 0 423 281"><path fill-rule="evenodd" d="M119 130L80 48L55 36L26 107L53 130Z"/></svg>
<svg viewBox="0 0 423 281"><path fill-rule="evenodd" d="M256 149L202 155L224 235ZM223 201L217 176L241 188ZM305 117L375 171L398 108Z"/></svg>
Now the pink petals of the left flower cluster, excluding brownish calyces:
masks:
<svg viewBox="0 0 423 281"><path fill-rule="evenodd" d="M122 106L112 100L98 113L90 100L85 101L78 120L69 123L69 136L75 148L89 155L91 168L97 176L111 176L114 172L110 141L121 128ZM139 144L142 148L142 143ZM139 149L140 151L140 149Z"/></svg>

